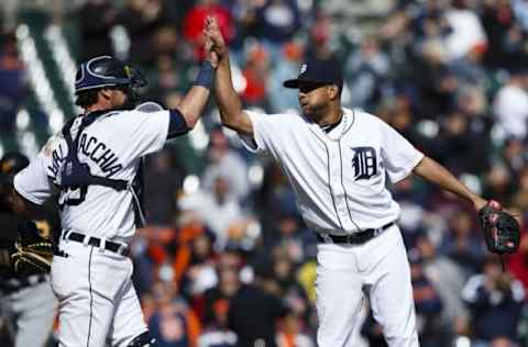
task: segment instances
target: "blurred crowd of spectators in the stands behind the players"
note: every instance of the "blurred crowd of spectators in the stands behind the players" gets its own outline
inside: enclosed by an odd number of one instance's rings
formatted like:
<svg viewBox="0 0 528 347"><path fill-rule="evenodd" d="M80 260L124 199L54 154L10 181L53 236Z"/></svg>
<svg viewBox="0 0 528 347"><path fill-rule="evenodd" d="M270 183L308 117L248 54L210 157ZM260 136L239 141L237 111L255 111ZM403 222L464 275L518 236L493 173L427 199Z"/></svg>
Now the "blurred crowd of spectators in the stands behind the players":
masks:
<svg viewBox="0 0 528 347"><path fill-rule="evenodd" d="M72 14L77 60L113 54L135 63L150 79L143 98L167 108L204 58L207 14L229 42L245 108L298 112L296 91L282 82L300 61L340 64L344 105L382 117L522 222L520 250L505 257L503 272L470 205L416 178L391 188L421 345L528 346L528 1L374 1L386 12L364 26L353 8L369 1L121 2L88 0ZM128 45L116 40L117 27ZM14 42L4 35L0 55L2 137L13 133L23 99ZM217 112L211 102L198 172L182 163L178 144L146 160L148 225L132 249L151 332L162 347L248 346L255 336L262 346L315 346L315 235L280 167L244 153ZM190 174L199 177L196 190L184 189ZM358 334L364 346L386 346L366 311Z"/></svg>

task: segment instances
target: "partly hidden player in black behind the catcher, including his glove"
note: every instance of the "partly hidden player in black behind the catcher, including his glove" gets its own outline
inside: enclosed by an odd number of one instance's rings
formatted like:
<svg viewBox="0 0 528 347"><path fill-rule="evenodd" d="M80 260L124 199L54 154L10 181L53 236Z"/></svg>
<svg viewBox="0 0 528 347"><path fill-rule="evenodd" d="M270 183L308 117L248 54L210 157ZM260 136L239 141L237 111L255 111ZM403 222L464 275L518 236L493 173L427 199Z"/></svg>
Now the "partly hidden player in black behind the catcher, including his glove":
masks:
<svg viewBox="0 0 528 347"><path fill-rule="evenodd" d="M0 160L0 197L29 160L19 153ZM20 221L0 205L0 333L2 346L45 346L56 314L50 284L53 256L50 237L57 222L45 212L35 221ZM7 339L7 340L6 340Z"/></svg>

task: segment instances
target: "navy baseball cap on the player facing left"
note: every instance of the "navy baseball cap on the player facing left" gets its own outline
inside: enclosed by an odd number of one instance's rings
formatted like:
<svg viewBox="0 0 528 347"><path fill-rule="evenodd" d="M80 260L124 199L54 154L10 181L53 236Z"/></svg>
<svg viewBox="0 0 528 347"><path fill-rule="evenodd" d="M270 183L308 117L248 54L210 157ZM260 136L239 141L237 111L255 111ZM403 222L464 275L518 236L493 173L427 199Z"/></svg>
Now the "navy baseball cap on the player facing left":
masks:
<svg viewBox="0 0 528 347"><path fill-rule="evenodd" d="M300 66L299 77L284 82L286 88L299 88L302 83L337 85L343 87L343 76L334 60L310 60Z"/></svg>

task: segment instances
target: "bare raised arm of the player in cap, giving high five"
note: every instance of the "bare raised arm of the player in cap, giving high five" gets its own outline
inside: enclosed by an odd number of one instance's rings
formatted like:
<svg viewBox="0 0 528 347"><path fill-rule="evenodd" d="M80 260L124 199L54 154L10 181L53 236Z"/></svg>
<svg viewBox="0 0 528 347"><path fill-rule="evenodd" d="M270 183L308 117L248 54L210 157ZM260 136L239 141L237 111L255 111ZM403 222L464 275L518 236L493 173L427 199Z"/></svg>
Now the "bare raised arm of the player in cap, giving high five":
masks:
<svg viewBox="0 0 528 347"><path fill-rule="evenodd" d="M211 40L212 53L218 57L219 66L215 81L215 94L222 124L244 135L253 135L251 119L244 110L231 79L229 53L218 23L212 16L206 20L206 37Z"/></svg>

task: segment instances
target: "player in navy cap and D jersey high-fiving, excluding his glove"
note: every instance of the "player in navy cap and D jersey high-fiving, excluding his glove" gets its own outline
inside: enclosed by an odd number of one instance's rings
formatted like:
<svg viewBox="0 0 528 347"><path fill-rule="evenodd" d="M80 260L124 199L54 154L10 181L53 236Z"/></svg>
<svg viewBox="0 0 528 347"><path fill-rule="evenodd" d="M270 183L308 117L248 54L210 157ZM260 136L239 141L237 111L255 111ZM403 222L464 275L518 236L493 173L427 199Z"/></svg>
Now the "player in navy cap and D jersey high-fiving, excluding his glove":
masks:
<svg viewBox="0 0 528 347"><path fill-rule="evenodd" d="M396 225L399 206L385 188L411 172L481 209L486 201L410 145L381 119L342 108L342 77L328 63L304 64L297 79L301 116L244 111L231 83L226 44L211 18L206 35L219 58L215 85L223 125L251 152L278 160L307 225L317 233L319 346L356 346L369 296L392 347L419 346L409 264Z"/></svg>

